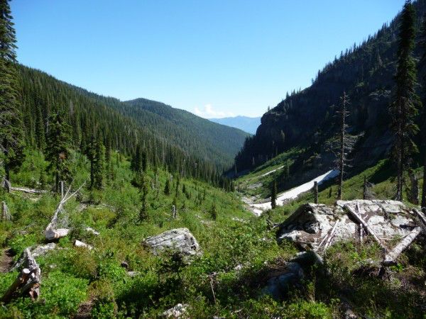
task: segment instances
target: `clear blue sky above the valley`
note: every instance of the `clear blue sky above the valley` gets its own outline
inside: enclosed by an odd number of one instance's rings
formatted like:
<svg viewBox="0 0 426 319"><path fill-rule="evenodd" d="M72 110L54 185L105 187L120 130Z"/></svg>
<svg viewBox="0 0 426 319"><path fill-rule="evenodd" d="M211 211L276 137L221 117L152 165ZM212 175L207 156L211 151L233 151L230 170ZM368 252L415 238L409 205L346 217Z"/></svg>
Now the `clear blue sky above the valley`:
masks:
<svg viewBox="0 0 426 319"><path fill-rule="evenodd" d="M261 116L404 0L13 0L18 60L121 100Z"/></svg>

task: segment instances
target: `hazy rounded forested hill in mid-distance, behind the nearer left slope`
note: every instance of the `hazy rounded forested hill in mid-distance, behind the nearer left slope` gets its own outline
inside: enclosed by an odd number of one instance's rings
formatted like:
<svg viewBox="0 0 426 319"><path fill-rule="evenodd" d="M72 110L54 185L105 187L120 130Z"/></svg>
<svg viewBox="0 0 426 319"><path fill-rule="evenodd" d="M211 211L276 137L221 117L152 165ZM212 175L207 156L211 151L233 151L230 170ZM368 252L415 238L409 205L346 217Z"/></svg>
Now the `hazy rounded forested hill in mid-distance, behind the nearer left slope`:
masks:
<svg viewBox="0 0 426 319"><path fill-rule="evenodd" d="M154 118L153 130L157 135L204 160L215 159L223 167L231 164L247 136L242 130L212 123L157 101L135 99L120 107L121 113L143 126L149 126L152 120L148 119Z"/></svg>

